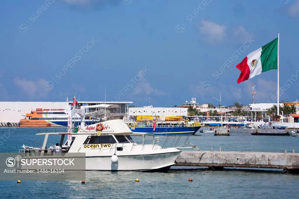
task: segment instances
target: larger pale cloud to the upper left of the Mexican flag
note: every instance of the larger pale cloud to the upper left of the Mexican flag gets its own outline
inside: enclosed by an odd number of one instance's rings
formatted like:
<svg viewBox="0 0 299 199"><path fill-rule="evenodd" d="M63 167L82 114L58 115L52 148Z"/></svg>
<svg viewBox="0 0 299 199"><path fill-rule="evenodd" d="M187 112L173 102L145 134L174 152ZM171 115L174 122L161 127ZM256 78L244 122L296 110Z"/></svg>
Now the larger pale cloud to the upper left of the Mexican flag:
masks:
<svg viewBox="0 0 299 199"><path fill-rule="evenodd" d="M202 20L198 29L212 43L222 41L226 36L226 26L215 22Z"/></svg>

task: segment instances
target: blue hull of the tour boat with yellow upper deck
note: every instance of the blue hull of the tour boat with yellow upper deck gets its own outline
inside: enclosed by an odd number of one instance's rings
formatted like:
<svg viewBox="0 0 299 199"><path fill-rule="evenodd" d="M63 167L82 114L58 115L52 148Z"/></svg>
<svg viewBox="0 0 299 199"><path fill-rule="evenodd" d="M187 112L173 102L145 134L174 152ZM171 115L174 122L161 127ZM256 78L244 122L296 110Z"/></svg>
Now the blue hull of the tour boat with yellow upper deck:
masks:
<svg viewBox="0 0 299 199"><path fill-rule="evenodd" d="M132 127L131 131L138 133L155 133L157 135L194 135L200 126L190 126L190 127L157 127L155 132L152 127Z"/></svg>

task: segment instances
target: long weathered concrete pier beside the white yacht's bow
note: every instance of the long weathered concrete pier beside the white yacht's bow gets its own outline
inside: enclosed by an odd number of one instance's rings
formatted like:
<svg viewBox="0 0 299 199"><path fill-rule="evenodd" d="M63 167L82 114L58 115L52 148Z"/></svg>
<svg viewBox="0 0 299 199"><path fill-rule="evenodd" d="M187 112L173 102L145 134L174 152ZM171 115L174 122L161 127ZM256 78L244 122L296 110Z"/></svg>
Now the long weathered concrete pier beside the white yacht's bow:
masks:
<svg viewBox="0 0 299 199"><path fill-rule="evenodd" d="M299 171L299 153L182 151L175 166L245 167Z"/></svg>

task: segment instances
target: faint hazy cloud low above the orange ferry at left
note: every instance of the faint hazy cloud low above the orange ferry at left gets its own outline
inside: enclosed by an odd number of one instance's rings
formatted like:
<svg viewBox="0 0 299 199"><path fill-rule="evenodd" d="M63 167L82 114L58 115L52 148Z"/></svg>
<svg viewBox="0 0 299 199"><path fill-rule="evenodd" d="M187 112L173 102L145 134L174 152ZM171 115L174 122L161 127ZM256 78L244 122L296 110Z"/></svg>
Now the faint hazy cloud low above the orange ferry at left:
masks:
<svg viewBox="0 0 299 199"><path fill-rule="evenodd" d="M45 88L45 79L38 79L37 81L20 79L19 77L13 79L16 86L22 89L22 93L28 95L28 98L47 97L48 90Z"/></svg>

